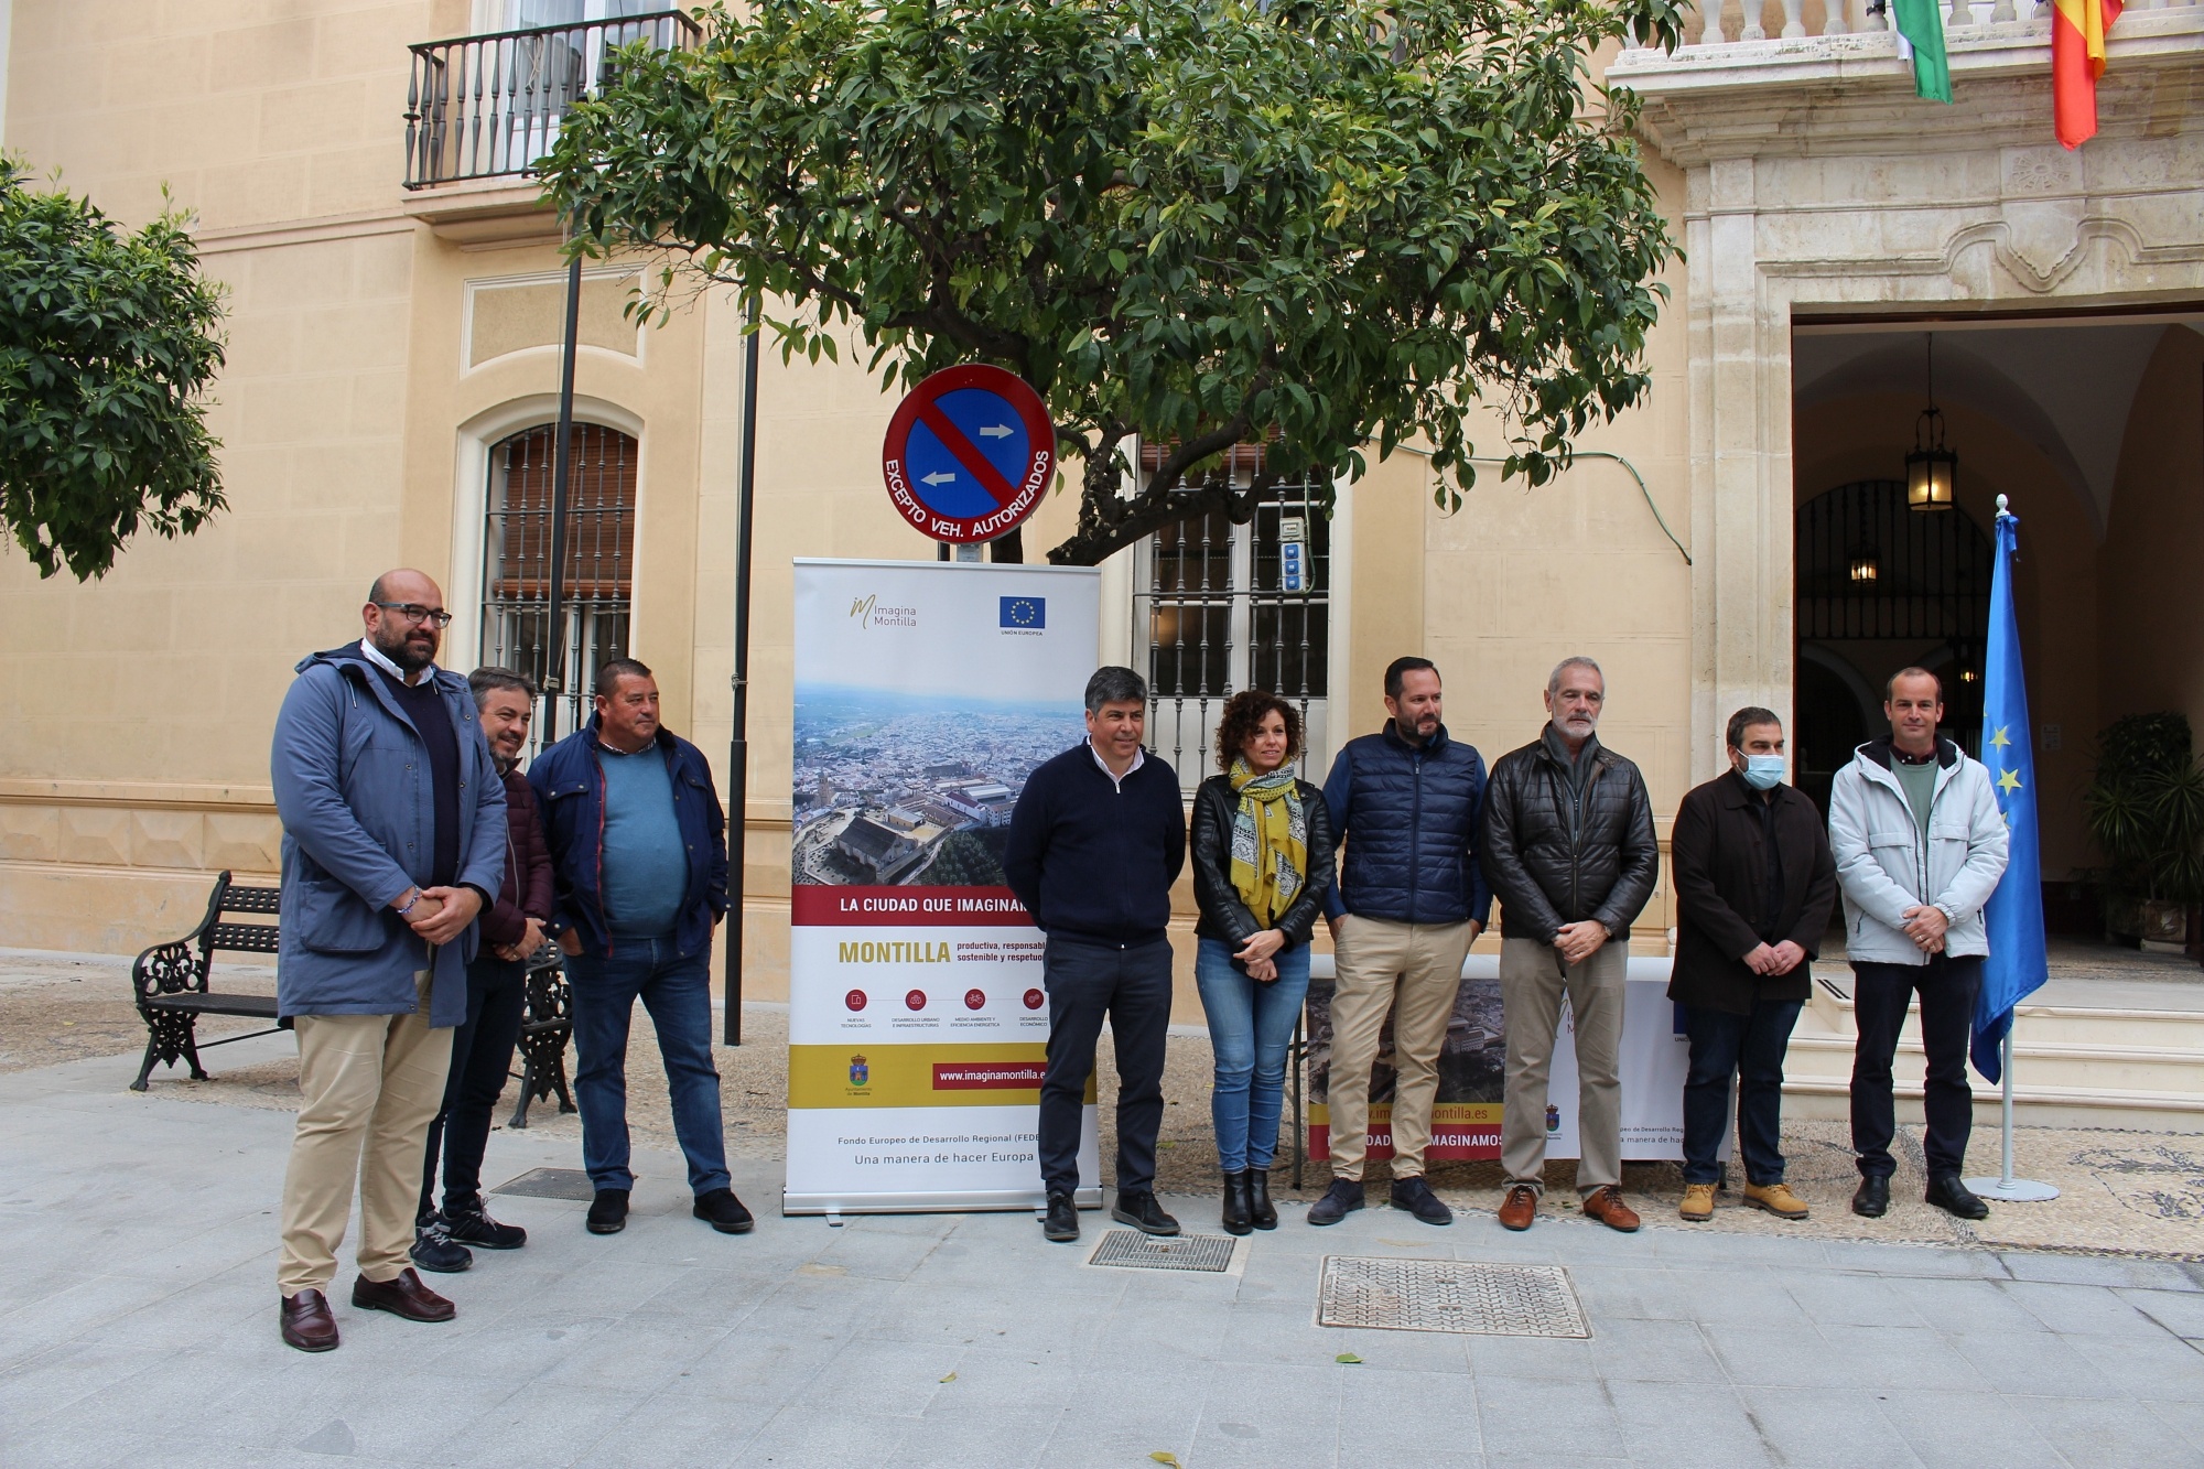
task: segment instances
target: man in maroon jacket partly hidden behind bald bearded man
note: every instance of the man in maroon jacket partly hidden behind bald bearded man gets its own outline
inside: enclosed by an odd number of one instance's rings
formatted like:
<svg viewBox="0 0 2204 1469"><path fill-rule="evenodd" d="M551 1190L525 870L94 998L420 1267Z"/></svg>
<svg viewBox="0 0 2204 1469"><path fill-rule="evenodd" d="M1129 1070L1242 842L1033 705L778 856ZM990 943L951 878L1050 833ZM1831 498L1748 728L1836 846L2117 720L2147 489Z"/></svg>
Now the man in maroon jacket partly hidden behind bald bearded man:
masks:
<svg viewBox="0 0 2204 1469"><path fill-rule="evenodd" d="M452 1074L443 1112L428 1125L421 1207L414 1213L412 1259L445 1275L474 1264L467 1246L518 1251L529 1235L500 1224L483 1207L483 1151L489 1114L505 1092L527 1008L527 957L544 942L551 922L551 849L536 818L536 792L520 774L520 752L536 717L536 684L511 668L467 675L474 710L489 752L505 774L505 887L476 920L478 953L467 964L467 1019L452 1034ZM436 1160L443 1158L443 1209L436 1207Z"/></svg>

